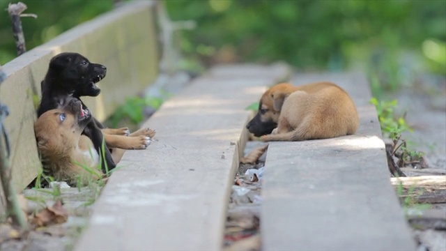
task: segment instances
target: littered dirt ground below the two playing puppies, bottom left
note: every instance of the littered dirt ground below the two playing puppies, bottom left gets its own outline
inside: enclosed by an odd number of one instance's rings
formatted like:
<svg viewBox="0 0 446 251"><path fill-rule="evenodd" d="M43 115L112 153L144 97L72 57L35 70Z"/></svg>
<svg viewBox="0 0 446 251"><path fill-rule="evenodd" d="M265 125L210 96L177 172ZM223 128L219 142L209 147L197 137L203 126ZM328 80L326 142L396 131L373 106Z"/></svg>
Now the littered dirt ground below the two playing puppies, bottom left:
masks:
<svg viewBox="0 0 446 251"><path fill-rule="evenodd" d="M72 250L76 239L86 227L91 208L100 188L92 185L90 188L62 188L60 195L56 195L52 188L25 190L24 195L30 199L31 211L52 207L54 201L62 199L66 210L66 221L61 224L36 226L31 223L27 231L17 231L8 223L0 224L1 251L62 251ZM35 217L29 216L29 222Z"/></svg>

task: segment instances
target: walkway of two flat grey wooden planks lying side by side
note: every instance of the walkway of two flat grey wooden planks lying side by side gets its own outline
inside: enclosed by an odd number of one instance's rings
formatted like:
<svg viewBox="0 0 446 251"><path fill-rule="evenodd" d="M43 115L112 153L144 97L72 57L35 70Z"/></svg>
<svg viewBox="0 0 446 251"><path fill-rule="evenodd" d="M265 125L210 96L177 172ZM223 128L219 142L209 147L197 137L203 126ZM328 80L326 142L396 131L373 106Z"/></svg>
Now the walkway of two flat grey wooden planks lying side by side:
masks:
<svg viewBox="0 0 446 251"><path fill-rule="evenodd" d="M225 66L195 80L145 126L95 204L75 250L221 250L227 201L247 132L247 105L286 75L279 66ZM263 250L415 250L390 184L384 144L362 75L337 82L357 103L357 135L274 142L266 160Z"/></svg>

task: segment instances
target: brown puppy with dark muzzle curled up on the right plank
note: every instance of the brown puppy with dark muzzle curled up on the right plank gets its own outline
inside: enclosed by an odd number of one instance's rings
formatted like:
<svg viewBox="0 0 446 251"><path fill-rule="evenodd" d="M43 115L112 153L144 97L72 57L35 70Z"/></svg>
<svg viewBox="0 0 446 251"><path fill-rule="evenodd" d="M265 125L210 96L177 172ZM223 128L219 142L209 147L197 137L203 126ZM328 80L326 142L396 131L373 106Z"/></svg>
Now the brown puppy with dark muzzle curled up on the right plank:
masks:
<svg viewBox="0 0 446 251"><path fill-rule="evenodd" d="M300 141L352 135L358 125L355 103L336 84L282 83L263 93L247 129L263 141Z"/></svg>

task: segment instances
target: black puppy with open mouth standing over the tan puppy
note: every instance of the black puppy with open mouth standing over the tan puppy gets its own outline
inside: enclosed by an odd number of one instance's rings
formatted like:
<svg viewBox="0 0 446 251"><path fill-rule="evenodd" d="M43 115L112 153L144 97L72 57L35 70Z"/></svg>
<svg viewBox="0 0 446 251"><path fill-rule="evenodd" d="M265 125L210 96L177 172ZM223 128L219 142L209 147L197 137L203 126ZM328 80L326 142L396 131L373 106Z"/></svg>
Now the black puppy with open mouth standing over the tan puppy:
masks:
<svg viewBox="0 0 446 251"><path fill-rule="evenodd" d="M96 86L105 77L107 68L99 63L91 63L81 54L75 52L64 52L54 56L49 61L49 68L45 79L41 83L42 99L38 107L38 116L50 109L56 109L61 100L66 100L67 96L72 96L80 100L81 96L98 96L100 89ZM82 102L82 100L81 100ZM84 102L82 106L87 108ZM102 123L94 117L88 123L82 134L91 139L98 153L101 152L102 142L104 142L101 129ZM105 147L105 161L102 161L102 172L116 167L110 149Z"/></svg>

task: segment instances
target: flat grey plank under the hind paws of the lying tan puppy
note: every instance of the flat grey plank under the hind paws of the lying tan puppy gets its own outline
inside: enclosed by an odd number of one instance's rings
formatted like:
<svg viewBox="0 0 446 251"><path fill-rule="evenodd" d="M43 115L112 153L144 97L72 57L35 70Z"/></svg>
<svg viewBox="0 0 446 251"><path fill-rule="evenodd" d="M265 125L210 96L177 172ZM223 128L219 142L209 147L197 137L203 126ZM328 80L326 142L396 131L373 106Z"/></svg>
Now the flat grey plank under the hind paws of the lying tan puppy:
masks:
<svg viewBox="0 0 446 251"><path fill-rule="evenodd" d="M220 250L245 107L285 73L222 66L164 102L144 125L156 141L125 153L75 250Z"/></svg>

